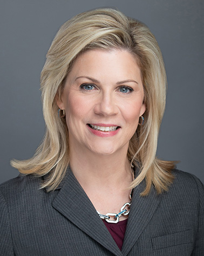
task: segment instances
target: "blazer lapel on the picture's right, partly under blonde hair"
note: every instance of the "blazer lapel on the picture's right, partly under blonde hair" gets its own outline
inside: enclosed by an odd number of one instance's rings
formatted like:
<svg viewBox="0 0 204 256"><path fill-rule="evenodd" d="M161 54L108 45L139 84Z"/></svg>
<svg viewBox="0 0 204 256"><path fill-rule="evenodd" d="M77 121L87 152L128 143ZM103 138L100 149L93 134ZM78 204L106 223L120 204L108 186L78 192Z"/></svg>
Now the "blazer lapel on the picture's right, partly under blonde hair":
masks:
<svg viewBox="0 0 204 256"><path fill-rule="evenodd" d="M140 196L144 189L145 181L134 188L131 210L121 250L123 255L127 255L130 252L159 206L160 195L157 195L155 189L152 187L148 196Z"/></svg>

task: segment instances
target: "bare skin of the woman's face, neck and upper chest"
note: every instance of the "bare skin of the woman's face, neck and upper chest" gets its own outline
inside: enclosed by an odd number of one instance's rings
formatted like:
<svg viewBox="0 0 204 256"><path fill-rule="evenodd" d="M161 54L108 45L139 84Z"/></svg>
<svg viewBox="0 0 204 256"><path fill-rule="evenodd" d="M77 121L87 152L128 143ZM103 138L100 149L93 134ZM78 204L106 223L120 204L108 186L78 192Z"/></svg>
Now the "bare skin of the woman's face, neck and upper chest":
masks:
<svg viewBox="0 0 204 256"><path fill-rule="evenodd" d="M101 213L118 212L129 201L125 188L132 175L127 149L145 112L143 99L140 69L125 50L84 52L57 99L66 113L72 171ZM118 128L96 132L89 124Z"/></svg>

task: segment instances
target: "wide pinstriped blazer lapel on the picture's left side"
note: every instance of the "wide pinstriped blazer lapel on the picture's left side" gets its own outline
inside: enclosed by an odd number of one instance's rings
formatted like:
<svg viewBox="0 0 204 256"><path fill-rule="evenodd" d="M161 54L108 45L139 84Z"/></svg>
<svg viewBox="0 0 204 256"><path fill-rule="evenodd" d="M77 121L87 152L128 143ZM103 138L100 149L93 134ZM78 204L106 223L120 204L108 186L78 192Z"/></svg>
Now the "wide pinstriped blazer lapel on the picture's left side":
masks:
<svg viewBox="0 0 204 256"><path fill-rule="evenodd" d="M68 168L67 172L52 206L107 250L118 256L123 255L71 169Z"/></svg>

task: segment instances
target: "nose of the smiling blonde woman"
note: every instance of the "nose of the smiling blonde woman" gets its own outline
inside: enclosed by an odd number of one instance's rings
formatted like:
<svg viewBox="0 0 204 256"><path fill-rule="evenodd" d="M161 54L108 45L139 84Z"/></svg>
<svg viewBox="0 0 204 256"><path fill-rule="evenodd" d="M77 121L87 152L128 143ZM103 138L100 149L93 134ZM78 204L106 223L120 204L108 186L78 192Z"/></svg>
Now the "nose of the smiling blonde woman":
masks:
<svg viewBox="0 0 204 256"><path fill-rule="evenodd" d="M111 93L101 93L94 106L94 113L101 116L114 116L119 112L117 102Z"/></svg>

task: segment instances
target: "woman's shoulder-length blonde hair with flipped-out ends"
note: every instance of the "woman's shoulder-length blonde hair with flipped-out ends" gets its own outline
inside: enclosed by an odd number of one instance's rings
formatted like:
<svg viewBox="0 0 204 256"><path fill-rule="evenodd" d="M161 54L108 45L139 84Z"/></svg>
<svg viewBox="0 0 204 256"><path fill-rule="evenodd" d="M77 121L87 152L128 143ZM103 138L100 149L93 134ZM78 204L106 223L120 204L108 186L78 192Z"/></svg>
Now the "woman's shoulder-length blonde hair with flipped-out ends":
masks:
<svg viewBox="0 0 204 256"><path fill-rule="evenodd" d="M70 161L69 133L65 118L57 115L56 95L60 97L64 81L74 60L90 49L123 49L135 56L144 85L145 123L138 126L130 141L128 158L140 172L131 187L146 180L147 195L152 184L158 193L167 191L173 181L174 163L157 159L158 133L165 110L166 73L155 37L145 24L114 9L97 9L79 14L65 22L57 32L41 74L43 113L46 134L35 155L11 165L23 174L46 179L42 187L57 188Z"/></svg>

